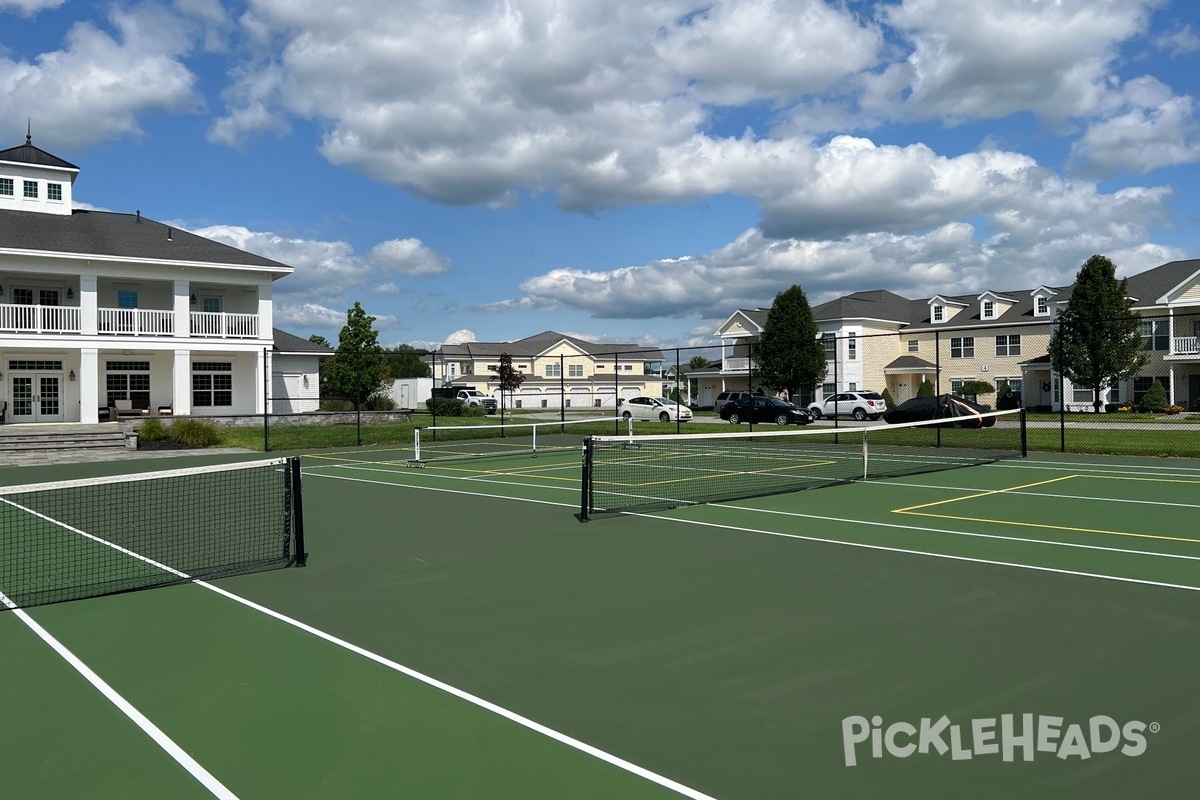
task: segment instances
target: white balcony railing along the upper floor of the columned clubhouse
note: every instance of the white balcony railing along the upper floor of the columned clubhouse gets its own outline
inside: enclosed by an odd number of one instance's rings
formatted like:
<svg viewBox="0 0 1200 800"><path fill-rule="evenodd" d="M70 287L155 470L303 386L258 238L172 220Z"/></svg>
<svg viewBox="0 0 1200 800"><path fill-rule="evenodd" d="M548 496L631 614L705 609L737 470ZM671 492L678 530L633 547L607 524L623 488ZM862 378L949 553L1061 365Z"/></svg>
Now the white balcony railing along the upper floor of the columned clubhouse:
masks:
<svg viewBox="0 0 1200 800"><path fill-rule="evenodd" d="M78 306L0 303L0 333L82 333ZM188 312L188 330L176 331L175 312L154 308L97 308L98 336L185 336L200 338L258 338L258 314Z"/></svg>

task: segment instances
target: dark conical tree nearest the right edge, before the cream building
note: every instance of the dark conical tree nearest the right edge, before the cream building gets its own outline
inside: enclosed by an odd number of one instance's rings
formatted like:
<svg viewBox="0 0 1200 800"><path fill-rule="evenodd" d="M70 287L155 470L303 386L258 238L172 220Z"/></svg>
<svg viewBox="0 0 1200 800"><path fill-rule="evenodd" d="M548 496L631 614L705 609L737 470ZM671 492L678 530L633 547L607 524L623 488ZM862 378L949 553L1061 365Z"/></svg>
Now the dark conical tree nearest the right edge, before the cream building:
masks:
<svg viewBox="0 0 1200 800"><path fill-rule="evenodd" d="M1116 266L1093 255L1080 267L1067 309L1050 337L1050 363L1075 386L1092 390L1092 408L1118 380L1132 378L1146 363L1138 314L1129 308L1126 281Z"/></svg>

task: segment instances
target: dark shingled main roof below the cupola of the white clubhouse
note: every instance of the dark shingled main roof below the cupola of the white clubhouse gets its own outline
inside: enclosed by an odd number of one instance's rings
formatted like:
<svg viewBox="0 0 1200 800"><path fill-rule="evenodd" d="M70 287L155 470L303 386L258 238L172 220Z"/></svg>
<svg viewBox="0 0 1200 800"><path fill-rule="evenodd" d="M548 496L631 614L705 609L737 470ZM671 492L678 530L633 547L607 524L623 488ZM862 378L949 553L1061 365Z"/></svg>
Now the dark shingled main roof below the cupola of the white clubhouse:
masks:
<svg viewBox="0 0 1200 800"><path fill-rule="evenodd" d="M0 209L0 249L6 248L292 270L287 264L190 234L140 213L80 209L70 216Z"/></svg>

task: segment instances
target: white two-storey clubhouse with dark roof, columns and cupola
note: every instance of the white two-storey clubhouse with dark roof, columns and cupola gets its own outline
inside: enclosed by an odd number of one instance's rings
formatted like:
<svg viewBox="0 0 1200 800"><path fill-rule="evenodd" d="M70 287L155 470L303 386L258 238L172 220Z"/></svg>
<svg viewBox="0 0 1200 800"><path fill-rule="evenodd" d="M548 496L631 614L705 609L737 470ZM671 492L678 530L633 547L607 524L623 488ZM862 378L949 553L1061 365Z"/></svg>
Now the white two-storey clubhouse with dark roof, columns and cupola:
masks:
<svg viewBox="0 0 1200 800"><path fill-rule="evenodd" d="M0 419L262 414L268 377L276 404L316 408L318 354L272 325L290 266L74 209L78 175L28 136L0 150Z"/></svg>

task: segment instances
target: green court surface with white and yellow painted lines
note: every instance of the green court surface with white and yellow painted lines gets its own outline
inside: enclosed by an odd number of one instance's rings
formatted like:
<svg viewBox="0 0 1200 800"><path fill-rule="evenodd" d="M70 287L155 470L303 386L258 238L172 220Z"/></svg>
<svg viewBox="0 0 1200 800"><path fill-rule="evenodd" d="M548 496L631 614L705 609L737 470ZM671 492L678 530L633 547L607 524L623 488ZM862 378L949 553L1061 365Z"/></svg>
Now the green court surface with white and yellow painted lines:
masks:
<svg viewBox="0 0 1200 800"><path fill-rule="evenodd" d="M0 796L1194 794L1200 463L583 524L546 444L305 453L306 567L0 612Z"/></svg>

